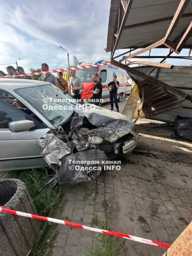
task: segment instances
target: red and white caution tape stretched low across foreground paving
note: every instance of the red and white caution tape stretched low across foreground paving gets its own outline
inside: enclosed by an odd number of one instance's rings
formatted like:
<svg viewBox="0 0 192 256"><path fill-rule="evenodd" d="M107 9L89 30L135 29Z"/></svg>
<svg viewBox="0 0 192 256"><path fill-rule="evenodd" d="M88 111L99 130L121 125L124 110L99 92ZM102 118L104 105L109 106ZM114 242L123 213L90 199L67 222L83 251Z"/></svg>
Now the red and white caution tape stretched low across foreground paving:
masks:
<svg viewBox="0 0 192 256"><path fill-rule="evenodd" d="M77 228L81 228L81 229L85 229L85 230L90 230L90 231L93 231L93 232L102 233L102 234L106 234L106 235L118 236L118 237L121 237L121 238L141 242L141 243L144 243L144 244L151 244L151 245L155 245L155 246L159 246L159 247L169 248L171 246L170 244L164 244L164 243L157 242L157 241L143 239L143 238L140 238L140 237L137 237L137 236L130 236L130 235L117 233L117 232L113 232L113 231L101 230L101 229L93 228L93 227L87 227L87 226L83 226L83 225L76 224L76 223L73 223L73 222L62 221L62 220L58 220L58 219L55 219L55 218L49 218L49 217L44 217L44 216L40 216L40 215L34 215L34 214L26 213L26 212L18 212L18 211L14 211L14 210L10 210L10 209L5 209L3 207L0 207L0 212L7 212L7 213L15 214L15 215L20 215L20 216L23 216L23 217L38 219L38 220L41 220L41 221L54 222L54 223L63 224L63 225L71 226L71 227L77 227Z"/></svg>

